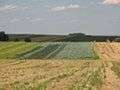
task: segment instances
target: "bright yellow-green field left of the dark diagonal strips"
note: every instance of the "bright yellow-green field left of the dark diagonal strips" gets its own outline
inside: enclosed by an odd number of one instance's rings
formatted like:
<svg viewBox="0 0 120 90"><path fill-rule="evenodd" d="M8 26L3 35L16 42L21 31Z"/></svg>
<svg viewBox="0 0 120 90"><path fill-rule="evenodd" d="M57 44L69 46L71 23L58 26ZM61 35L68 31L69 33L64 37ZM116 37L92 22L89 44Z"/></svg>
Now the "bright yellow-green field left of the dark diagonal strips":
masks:
<svg viewBox="0 0 120 90"><path fill-rule="evenodd" d="M16 59L17 55L38 47L39 43L0 42L0 59Z"/></svg>

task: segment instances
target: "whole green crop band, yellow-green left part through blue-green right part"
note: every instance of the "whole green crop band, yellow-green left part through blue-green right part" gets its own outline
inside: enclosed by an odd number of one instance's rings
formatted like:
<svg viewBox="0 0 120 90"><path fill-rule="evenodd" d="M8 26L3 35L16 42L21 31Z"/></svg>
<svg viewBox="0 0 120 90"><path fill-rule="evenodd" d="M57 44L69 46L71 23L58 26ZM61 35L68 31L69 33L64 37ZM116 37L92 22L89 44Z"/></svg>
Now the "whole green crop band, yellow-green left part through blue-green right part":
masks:
<svg viewBox="0 0 120 90"><path fill-rule="evenodd" d="M88 42L0 42L0 59L97 59Z"/></svg>

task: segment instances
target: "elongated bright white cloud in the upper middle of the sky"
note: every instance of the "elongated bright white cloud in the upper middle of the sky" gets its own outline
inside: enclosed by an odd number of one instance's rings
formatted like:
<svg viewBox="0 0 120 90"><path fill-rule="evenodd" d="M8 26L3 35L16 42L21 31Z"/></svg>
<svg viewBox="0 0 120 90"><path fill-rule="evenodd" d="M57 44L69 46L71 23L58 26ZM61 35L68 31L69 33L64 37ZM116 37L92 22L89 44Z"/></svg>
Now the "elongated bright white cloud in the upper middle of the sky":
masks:
<svg viewBox="0 0 120 90"><path fill-rule="evenodd" d="M51 8L51 11L64 11L64 10L68 10L68 9L77 9L77 8L80 8L80 6L79 5L70 4L68 6L53 7L53 8Z"/></svg>

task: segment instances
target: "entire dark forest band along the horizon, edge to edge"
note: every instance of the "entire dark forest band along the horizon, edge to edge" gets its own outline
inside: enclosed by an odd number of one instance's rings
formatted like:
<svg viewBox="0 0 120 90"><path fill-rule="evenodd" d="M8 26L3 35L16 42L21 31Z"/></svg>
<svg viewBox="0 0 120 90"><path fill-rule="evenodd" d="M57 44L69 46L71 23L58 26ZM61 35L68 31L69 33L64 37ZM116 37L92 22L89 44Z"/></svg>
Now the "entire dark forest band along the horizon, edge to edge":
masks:
<svg viewBox="0 0 120 90"><path fill-rule="evenodd" d="M71 33L68 35L40 35L40 34L5 34L0 32L0 41L25 42L120 42L120 36L86 35L84 33Z"/></svg>

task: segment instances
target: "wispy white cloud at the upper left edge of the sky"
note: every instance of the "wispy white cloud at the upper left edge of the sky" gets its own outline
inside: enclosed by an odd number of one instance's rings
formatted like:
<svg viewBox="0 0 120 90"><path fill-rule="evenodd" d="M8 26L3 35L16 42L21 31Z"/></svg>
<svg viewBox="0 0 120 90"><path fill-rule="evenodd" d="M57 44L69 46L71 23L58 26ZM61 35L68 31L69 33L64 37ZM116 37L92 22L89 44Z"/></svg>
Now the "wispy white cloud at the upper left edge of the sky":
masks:
<svg viewBox="0 0 120 90"><path fill-rule="evenodd" d="M0 7L0 11L14 11L14 10L26 10L29 9L27 6L17 6L13 4L8 4Z"/></svg>

